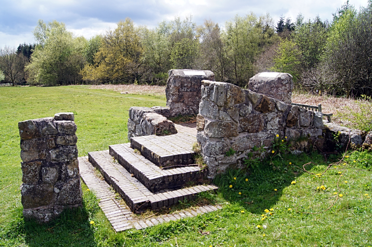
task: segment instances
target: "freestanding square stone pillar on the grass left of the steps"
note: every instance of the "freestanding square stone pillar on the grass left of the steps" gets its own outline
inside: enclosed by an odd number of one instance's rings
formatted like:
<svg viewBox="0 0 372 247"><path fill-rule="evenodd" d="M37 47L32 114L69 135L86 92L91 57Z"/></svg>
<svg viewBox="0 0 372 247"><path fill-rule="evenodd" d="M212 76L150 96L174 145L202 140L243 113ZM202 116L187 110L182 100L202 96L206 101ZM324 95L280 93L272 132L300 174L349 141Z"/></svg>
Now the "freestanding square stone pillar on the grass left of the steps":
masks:
<svg viewBox="0 0 372 247"><path fill-rule="evenodd" d="M82 206L73 113L18 123L25 219L49 222Z"/></svg>

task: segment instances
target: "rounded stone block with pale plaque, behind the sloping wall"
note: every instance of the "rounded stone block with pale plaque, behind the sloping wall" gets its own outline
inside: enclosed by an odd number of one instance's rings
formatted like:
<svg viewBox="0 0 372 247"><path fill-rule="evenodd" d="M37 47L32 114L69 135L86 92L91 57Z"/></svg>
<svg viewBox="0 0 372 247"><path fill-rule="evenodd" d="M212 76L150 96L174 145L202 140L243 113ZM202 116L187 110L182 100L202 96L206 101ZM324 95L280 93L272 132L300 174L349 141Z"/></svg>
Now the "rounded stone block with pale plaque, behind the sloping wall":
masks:
<svg viewBox="0 0 372 247"><path fill-rule="evenodd" d="M292 103L293 81L288 73L258 73L249 79L248 89L289 105Z"/></svg>

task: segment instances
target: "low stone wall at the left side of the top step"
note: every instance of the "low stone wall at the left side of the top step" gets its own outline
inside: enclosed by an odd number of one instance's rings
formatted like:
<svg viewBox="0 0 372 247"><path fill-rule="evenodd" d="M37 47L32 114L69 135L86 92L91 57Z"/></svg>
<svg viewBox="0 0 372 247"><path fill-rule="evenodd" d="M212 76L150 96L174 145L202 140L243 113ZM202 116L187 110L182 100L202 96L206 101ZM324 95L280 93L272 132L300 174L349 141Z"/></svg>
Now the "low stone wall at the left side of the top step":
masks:
<svg viewBox="0 0 372 247"><path fill-rule="evenodd" d="M169 116L169 108L131 107L127 124L128 139L143 135L177 133L175 124L163 115Z"/></svg>

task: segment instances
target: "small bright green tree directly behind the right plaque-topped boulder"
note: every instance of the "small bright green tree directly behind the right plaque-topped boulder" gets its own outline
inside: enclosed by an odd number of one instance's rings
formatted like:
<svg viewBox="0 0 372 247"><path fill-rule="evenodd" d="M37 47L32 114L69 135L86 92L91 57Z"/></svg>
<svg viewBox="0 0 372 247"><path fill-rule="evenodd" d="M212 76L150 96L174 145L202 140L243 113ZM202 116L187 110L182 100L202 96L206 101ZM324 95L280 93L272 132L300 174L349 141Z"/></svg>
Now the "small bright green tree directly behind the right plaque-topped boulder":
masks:
<svg viewBox="0 0 372 247"><path fill-rule="evenodd" d="M274 57L273 71L290 73L293 81L296 82L300 77L301 52L297 44L291 40L282 40L279 44L277 54Z"/></svg>

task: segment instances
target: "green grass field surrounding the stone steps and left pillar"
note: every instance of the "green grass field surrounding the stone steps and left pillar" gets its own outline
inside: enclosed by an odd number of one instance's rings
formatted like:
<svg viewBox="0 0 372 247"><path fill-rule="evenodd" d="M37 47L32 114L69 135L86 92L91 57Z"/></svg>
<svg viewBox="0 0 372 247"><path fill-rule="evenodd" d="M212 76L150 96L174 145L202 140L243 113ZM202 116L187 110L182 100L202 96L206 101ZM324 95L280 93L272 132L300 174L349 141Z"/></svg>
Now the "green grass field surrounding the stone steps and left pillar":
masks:
<svg viewBox="0 0 372 247"><path fill-rule="evenodd" d="M84 156L127 141L130 106L165 102L164 95L87 86L0 88L0 246L372 246L372 154L366 151L326 159L315 151L287 154L272 165L230 170L215 179L216 195L204 195L224 209L141 231L115 233L85 185L83 208L47 225L23 220L19 121L74 112Z"/></svg>

